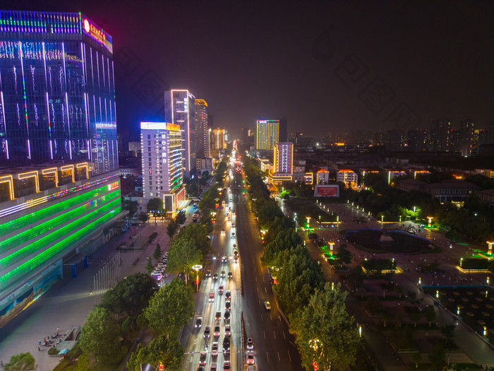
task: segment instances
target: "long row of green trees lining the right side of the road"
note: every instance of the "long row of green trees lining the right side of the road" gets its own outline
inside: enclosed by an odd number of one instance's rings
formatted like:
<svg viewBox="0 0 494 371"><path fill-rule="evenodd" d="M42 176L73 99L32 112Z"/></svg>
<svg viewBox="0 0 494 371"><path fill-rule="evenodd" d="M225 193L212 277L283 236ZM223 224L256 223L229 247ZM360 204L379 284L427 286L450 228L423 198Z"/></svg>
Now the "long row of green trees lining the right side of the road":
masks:
<svg viewBox="0 0 494 371"><path fill-rule="evenodd" d="M345 368L356 361L359 336L345 306L340 285L332 288L324 282L317 262L312 261L294 220L284 216L263 182L263 173L254 160L243 157L249 193L259 227L265 233L263 266L277 277L273 290L279 306L288 315L291 333L301 353L302 365L312 370L331 366Z"/></svg>

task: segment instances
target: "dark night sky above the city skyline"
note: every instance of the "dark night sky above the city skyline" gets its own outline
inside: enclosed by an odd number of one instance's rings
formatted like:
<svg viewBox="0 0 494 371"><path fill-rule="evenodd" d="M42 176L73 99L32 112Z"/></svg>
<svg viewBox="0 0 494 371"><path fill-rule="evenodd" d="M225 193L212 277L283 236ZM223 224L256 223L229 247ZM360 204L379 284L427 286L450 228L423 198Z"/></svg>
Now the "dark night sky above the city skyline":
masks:
<svg viewBox="0 0 494 371"><path fill-rule="evenodd" d="M3 1L82 11L113 37L119 131L160 119L188 88L238 136L494 119L494 1ZM7 4L6 4L7 3Z"/></svg>

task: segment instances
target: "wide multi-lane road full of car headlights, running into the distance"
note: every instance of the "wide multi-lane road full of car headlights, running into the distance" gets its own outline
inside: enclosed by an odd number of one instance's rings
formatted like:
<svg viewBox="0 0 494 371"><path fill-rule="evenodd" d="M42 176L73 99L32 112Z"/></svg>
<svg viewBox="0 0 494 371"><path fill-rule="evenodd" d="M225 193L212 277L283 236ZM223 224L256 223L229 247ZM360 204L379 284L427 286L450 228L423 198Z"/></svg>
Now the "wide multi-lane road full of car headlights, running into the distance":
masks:
<svg viewBox="0 0 494 371"><path fill-rule="evenodd" d="M277 308L267 269L260 266L263 246L248 193L243 189L243 175L234 172L233 167L229 167L227 175L227 191L222 194L225 203L218 210L212 234L212 257L205 266L205 272L211 271L212 277L204 278L195 300L195 316L181 334L181 343L186 347L184 370L198 370L201 352L205 352L204 370L209 371L213 364L217 370L224 370L225 361L230 362L231 370L244 370L248 359L247 338L253 339L256 370L303 370L294 337ZM235 251L239 254L238 262L234 261ZM222 257L227 257L226 263ZM232 278L228 278L229 272ZM217 280L213 278L215 273L219 276ZM222 294L219 285L224 286ZM224 320L227 290L231 293L229 322ZM215 294L212 302L210 293ZM266 309L266 301L270 302L271 310ZM217 312L221 314L219 320ZM202 319L200 328L195 327L198 317ZM222 352L227 324L231 326L230 351ZM210 326L210 338L204 336L205 326ZM214 334L215 326L219 326L219 336ZM218 343L218 355L212 352L213 342Z"/></svg>

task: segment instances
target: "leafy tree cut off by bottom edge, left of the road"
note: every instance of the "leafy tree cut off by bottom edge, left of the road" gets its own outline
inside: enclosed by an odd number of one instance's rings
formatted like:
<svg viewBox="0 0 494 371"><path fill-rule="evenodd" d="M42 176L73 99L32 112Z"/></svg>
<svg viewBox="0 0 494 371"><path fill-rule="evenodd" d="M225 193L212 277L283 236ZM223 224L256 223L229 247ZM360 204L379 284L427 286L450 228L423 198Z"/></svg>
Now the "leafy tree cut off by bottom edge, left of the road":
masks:
<svg viewBox="0 0 494 371"><path fill-rule="evenodd" d="M179 341L168 338L163 334L159 338L152 339L148 346L140 346L131 354L127 368L131 371L143 370L143 365L148 363L158 369L159 365L164 365L164 370L179 371L183 360L185 349Z"/></svg>

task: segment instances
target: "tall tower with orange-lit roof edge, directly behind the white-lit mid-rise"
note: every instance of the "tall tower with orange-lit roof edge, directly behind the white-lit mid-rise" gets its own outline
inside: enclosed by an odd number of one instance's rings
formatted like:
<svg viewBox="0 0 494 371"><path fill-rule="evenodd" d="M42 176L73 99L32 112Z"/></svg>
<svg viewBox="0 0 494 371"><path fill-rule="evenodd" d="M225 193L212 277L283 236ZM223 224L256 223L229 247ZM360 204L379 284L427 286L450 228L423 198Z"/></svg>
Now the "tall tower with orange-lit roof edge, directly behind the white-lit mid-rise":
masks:
<svg viewBox="0 0 494 371"><path fill-rule="evenodd" d="M164 121L180 125L184 175L195 171L195 97L188 90L172 89L164 92Z"/></svg>

